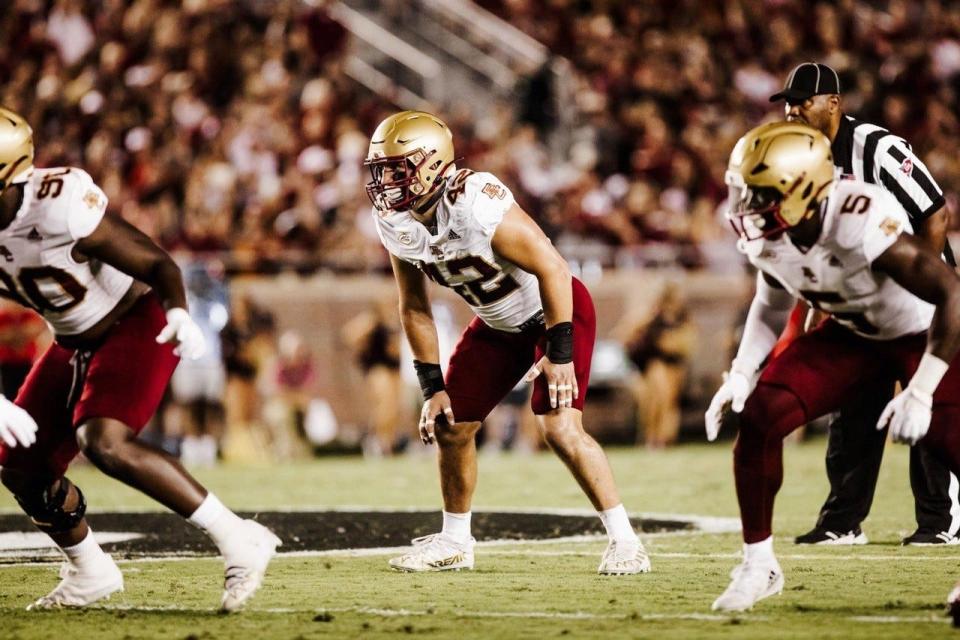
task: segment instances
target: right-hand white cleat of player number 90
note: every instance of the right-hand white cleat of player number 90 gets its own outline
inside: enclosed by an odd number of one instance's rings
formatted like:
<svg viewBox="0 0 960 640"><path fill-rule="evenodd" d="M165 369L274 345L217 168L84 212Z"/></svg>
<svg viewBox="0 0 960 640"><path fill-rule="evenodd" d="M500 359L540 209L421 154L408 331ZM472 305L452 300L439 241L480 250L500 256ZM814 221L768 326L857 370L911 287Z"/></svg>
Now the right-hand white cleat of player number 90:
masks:
<svg viewBox="0 0 960 640"><path fill-rule="evenodd" d="M267 565L281 545L272 531L254 520L244 520L220 550L226 567L221 611L236 611L249 600L267 572Z"/></svg>

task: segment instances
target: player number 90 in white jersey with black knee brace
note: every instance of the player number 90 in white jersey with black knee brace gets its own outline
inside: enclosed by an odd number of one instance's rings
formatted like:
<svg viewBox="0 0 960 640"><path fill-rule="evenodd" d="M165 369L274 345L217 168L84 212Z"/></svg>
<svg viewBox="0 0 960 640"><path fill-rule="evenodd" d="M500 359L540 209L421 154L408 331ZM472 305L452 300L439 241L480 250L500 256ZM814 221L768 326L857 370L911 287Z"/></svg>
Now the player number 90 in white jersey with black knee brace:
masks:
<svg viewBox="0 0 960 640"><path fill-rule="evenodd" d="M29 125L0 109L0 295L41 314L55 341L16 400L0 396L0 478L67 557L31 608L81 607L123 589L65 476L78 452L206 531L223 554L221 607L239 608L279 540L243 520L173 458L137 440L179 357L204 349L180 270L80 169L37 169Z"/></svg>

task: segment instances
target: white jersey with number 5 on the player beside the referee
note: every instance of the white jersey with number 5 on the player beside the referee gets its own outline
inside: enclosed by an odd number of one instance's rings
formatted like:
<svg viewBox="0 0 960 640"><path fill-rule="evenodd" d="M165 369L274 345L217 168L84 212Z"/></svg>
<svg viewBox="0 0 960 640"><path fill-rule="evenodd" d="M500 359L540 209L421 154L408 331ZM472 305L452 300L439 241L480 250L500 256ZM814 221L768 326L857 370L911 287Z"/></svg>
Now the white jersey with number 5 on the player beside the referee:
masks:
<svg viewBox="0 0 960 640"><path fill-rule="evenodd" d="M738 247L791 294L865 338L890 340L928 330L933 305L870 268L901 233L912 233L900 203L881 187L843 179L822 214L820 238L806 252L786 234L741 241Z"/></svg>

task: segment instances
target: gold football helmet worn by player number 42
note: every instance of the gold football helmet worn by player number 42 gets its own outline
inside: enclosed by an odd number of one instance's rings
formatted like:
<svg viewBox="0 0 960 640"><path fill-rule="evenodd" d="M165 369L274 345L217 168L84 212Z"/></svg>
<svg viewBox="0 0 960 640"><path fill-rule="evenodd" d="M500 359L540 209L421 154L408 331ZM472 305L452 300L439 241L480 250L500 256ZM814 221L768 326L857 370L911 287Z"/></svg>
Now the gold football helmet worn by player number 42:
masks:
<svg viewBox="0 0 960 640"><path fill-rule="evenodd" d="M370 137L367 195L381 211L416 208L440 189L453 161L453 134L442 120L425 111L395 113Z"/></svg>

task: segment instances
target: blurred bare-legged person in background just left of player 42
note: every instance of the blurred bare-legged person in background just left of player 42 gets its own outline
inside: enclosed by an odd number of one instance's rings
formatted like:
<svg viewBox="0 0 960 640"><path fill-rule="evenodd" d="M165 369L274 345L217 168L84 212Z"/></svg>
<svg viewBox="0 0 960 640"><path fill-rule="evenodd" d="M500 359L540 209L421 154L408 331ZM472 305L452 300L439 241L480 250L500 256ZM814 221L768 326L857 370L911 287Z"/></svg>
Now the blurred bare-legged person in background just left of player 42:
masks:
<svg viewBox="0 0 960 640"><path fill-rule="evenodd" d="M369 431L364 455L390 455L406 446L415 420L406 415L406 394L400 377L400 333L397 305L383 300L355 316L341 335L363 371L363 391L369 401Z"/></svg>

